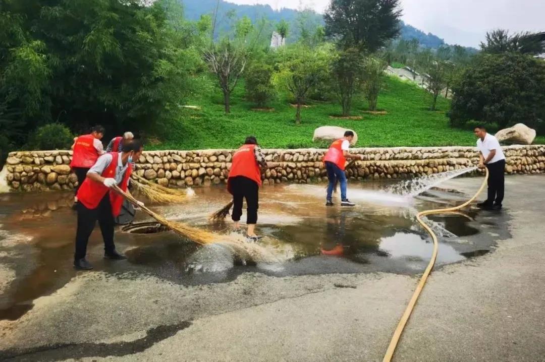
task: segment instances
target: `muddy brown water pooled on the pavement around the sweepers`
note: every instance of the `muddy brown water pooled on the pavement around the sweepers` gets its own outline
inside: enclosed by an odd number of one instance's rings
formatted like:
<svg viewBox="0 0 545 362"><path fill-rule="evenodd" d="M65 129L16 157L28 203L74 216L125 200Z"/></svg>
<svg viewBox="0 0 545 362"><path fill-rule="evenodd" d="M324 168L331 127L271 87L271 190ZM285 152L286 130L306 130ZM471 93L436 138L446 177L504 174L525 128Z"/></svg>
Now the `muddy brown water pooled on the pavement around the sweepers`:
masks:
<svg viewBox="0 0 545 362"><path fill-rule="evenodd" d="M275 262L248 263L219 244L199 247L161 228L142 234L118 230L116 246L128 260L109 261L102 259L98 227L90 238L88 260L94 271L124 278L151 274L185 285L219 283L248 271L278 276L421 272L432 244L416 225L417 210L453 206L468 196L434 188L418 197L401 197L382 191L389 186L350 185L349 198L358 203L352 208L325 207L323 186L264 187L258 230L265 237L259 246L274 255ZM169 218L228 233L230 220L208 220L211 212L229 201L225 189L195 191L196 195L183 204L149 206ZM71 266L76 222L71 198L70 193L0 194L0 266L15 271L15 279L0 295L0 319L19 318L32 308L34 299L56 291L82 273ZM429 219L441 236L438 265L490 250L494 238L479 234L476 217L477 211L470 210ZM144 214L136 219L149 221Z"/></svg>

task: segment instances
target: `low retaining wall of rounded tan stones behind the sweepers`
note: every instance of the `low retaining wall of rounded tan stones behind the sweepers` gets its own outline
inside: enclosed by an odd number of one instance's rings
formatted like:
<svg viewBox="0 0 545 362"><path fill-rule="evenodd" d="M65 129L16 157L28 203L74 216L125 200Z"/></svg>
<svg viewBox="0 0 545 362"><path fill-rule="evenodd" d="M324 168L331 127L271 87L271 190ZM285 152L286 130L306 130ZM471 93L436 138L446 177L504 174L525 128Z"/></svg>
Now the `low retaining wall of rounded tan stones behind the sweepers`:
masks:
<svg viewBox="0 0 545 362"><path fill-rule="evenodd" d="M164 186L208 186L225 183L233 150L145 151L136 163L136 173ZM282 162L266 170L265 185L281 182L326 181L321 162L325 150L264 150L267 161ZM364 161L347 169L352 180L404 179L455 170L477 164L474 147L360 148L352 153ZM507 174L545 172L545 145L506 146ZM9 187L16 191L72 189L76 175L70 171L72 151L11 152L5 167Z"/></svg>

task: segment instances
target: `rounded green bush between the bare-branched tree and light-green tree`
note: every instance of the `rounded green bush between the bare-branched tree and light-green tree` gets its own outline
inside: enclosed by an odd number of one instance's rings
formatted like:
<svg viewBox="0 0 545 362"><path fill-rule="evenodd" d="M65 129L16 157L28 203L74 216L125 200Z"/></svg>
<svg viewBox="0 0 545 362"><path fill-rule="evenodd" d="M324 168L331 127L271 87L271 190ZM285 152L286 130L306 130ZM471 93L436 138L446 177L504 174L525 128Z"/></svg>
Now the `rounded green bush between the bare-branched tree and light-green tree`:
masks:
<svg viewBox="0 0 545 362"><path fill-rule="evenodd" d="M267 102L276 96L272 84L272 66L255 63L250 66L245 75L246 99L264 107Z"/></svg>

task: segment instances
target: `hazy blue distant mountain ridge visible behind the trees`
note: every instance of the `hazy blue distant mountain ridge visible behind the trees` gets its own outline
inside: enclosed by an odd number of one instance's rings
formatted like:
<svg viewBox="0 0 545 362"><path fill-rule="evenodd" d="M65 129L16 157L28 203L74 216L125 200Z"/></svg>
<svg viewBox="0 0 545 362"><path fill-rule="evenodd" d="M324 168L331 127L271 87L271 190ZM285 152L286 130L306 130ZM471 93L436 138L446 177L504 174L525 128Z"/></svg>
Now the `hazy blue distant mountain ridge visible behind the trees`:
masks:
<svg viewBox="0 0 545 362"><path fill-rule="evenodd" d="M203 14L212 14L216 8L216 0L180 0L184 5L185 17L189 20L198 20ZM296 26L296 19L299 11L294 9L283 8L278 11L273 10L269 5L238 5L226 1L220 1L218 11L217 26L220 30L227 29L228 15L235 14L235 17L247 16L252 21L267 18L271 22L285 20L290 24L290 29L287 37L287 42L295 41L299 38L299 30ZM323 24L322 14L311 14L310 19L306 20ZM445 44L445 41L432 33L424 33L422 30L401 22L401 38L410 40L418 39L422 46L428 48L438 48Z"/></svg>

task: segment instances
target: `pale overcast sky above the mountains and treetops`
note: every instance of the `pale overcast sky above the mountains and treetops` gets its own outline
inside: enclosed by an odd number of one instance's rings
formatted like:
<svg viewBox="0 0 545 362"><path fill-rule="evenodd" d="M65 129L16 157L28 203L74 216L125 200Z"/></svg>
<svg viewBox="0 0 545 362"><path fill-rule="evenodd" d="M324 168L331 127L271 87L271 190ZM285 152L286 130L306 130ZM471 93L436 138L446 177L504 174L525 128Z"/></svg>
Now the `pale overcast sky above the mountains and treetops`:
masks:
<svg viewBox="0 0 545 362"><path fill-rule="evenodd" d="M269 4L273 9L312 7L323 13L329 0L228 0ZM449 44L477 47L487 30L545 31L545 0L401 0L402 20Z"/></svg>

